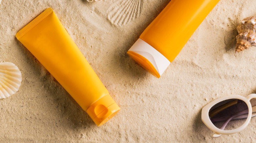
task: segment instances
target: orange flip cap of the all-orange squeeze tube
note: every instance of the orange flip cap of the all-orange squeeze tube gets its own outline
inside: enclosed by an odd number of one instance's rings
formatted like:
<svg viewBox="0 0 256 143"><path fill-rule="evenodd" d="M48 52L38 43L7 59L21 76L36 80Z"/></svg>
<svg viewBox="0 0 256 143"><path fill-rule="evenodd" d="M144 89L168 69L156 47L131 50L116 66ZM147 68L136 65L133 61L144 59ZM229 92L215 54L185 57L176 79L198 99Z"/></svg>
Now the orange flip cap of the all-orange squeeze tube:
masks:
<svg viewBox="0 0 256 143"><path fill-rule="evenodd" d="M115 116L119 110L120 107L114 99L110 95L105 95L93 103L86 112L97 126L101 126Z"/></svg>

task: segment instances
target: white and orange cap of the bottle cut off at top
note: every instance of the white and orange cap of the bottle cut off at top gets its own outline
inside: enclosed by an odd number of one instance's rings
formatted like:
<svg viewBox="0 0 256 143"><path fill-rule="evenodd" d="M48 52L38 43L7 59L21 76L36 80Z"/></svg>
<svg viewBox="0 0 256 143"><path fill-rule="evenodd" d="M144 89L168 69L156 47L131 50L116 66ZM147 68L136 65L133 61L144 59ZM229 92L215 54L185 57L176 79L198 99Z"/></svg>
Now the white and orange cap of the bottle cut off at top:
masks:
<svg viewBox="0 0 256 143"><path fill-rule="evenodd" d="M127 54L151 74L160 78L170 61L142 39L138 39Z"/></svg>

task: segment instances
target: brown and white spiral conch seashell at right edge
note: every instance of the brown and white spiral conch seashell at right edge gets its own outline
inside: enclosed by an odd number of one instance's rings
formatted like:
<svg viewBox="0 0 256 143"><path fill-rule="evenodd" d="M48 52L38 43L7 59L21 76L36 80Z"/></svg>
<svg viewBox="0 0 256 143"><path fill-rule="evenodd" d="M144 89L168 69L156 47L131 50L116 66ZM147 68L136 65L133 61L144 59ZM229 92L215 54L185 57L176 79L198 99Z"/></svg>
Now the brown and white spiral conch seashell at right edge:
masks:
<svg viewBox="0 0 256 143"><path fill-rule="evenodd" d="M256 16L247 17L237 26L236 51L239 53L250 46L256 46Z"/></svg>

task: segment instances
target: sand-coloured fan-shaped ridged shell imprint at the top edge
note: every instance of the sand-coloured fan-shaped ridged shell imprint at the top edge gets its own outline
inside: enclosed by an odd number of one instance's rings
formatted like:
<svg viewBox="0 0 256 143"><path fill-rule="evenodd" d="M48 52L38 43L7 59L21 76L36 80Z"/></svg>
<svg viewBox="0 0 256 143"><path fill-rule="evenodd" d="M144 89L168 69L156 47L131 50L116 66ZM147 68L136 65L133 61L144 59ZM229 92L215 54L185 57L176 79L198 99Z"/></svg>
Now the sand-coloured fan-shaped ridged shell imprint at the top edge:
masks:
<svg viewBox="0 0 256 143"><path fill-rule="evenodd" d="M142 0L117 0L108 9L108 19L115 25L126 25L139 17Z"/></svg>

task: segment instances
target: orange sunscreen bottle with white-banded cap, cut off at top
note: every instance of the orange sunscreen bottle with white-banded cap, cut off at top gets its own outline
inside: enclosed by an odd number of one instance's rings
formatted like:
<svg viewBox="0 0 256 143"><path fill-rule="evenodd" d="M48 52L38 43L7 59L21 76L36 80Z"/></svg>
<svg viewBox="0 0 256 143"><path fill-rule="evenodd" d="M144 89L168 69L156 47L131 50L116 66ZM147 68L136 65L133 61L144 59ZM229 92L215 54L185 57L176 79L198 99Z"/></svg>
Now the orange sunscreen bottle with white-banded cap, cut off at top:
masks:
<svg viewBox="0 0 256 143"><path fill-rule="evenodd" d="M127 54L160 78L218 2L219 0L171 0Z"/></svg>

